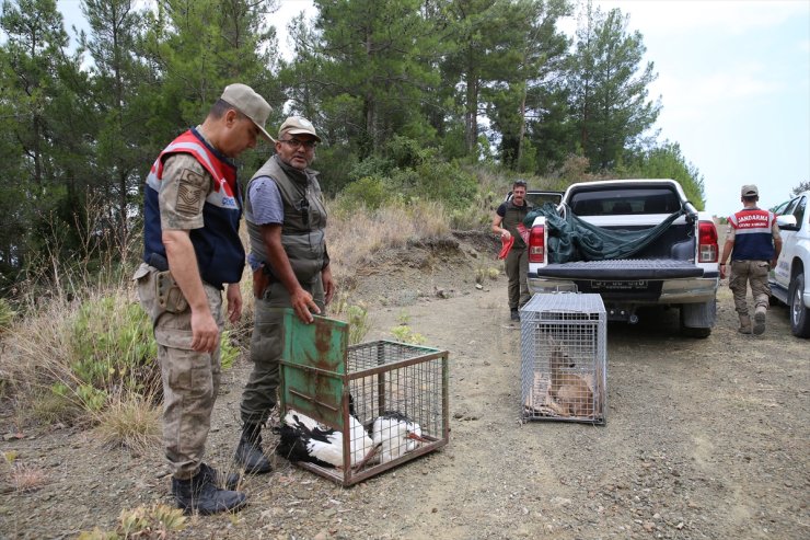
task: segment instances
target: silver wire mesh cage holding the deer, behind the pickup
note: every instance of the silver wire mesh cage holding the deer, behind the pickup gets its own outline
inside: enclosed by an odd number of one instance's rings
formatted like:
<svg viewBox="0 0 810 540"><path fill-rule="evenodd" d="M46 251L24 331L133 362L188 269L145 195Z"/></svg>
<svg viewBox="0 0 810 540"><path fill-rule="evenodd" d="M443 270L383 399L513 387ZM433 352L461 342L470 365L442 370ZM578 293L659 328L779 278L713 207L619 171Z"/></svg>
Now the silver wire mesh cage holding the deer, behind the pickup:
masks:
<svg viewBox="0 0 810 540"><path fill-rule="evenodd" d="M604 425L608 318L599 295L534 295L520 310L523 421Z"/></svg>

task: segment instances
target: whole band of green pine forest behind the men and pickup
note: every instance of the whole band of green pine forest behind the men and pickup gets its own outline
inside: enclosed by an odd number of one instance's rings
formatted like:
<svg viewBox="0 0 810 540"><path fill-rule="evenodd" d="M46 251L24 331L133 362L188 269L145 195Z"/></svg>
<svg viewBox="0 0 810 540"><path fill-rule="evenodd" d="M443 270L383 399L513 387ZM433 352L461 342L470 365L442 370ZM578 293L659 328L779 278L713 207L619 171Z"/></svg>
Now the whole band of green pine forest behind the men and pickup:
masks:
<svg viewBox="0 0 810 540"><path fill-rule="evenodd" d="M588 2L571 41L571 0L314 0L278 43L279 3L82 0L71 53L55 0L2 0L0 172L18 181L0 187L0 294L43 255L120 250L154 157L235 81L273 105L269 126L314 122L323 188L347 204L437 198L458 216L490 188L476 166L545 185L664 175L703 202L680 148L655 142L653 65L618 10ZM245 152L243 176L267 153Z"/></svg>

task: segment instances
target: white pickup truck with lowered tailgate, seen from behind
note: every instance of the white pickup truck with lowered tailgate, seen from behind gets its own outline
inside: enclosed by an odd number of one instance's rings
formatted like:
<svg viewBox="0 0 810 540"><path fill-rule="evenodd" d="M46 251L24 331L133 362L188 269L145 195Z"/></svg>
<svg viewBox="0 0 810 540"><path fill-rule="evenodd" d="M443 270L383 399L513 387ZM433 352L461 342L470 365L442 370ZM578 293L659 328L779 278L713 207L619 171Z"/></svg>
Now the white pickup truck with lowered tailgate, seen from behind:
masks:
<svg viewBox="0 0 810 540"><path fill-rule="evenodd" d="M716 318L720 275L717 229L711 216L698 211L674 180L610 180L571 184L557 212L574 212L615 238L652 229L680 215L652 242L625 258L555 262L551 239L557 232L545 216L535 217L529 237L529 289L595 292L609 320L638 321L643 306L680 309L681 331L706 337ZM627 242L632 244L633 242ZM575 241L576 244L576 241Z"/></svg>

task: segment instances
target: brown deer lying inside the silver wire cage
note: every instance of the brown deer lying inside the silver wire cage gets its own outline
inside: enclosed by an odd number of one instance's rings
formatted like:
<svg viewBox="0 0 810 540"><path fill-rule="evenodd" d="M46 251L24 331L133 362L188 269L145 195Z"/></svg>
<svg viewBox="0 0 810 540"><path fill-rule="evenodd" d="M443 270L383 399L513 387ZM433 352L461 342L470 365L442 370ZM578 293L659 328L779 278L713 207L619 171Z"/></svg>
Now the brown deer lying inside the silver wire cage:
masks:
<svg viewBox="0 0 810 540"><path fill-rule="evenodd" d="M593 391L585 377L565 371L576 367L576 363L563 351L563 346L548 337L552 354L551 388L548 393L556 401L553 406L563 416L590 416L593 414Z"/></svg>

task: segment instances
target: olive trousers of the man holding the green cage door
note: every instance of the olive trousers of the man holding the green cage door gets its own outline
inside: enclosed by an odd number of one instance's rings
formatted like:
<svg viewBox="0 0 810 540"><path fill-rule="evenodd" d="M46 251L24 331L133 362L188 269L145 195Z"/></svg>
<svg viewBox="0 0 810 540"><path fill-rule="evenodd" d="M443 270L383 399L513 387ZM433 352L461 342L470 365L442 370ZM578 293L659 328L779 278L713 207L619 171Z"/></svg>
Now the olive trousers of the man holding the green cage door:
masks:
<svg viewBox="0 0 810 540"><path fill-rule="evenodd" d="M309 284L301 284L310 292L324 314L324 290L321 273ZM273 282L256 299L254 307L253 336L251 338L251 371L242 392L240 413L243 424L264 424L278 400L280 382L279 360L284 353L284 313L279 308L289 308L290 295L281 282Z"/></svg>

